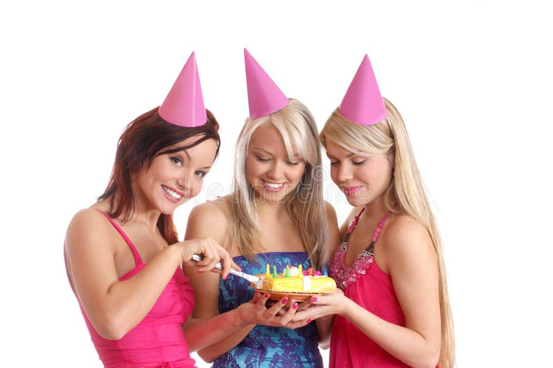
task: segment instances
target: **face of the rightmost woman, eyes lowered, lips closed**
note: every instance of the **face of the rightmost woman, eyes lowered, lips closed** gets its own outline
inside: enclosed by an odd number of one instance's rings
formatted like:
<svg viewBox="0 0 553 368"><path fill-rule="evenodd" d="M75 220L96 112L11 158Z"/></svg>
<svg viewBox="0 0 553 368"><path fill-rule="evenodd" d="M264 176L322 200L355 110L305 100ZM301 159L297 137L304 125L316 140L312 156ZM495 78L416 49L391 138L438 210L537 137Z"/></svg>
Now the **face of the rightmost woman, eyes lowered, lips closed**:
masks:
<svg viewBox="0 0 553 368"><path fill-rule="evenodd" d="M326 139L330 177L352 206L364 206L386 191L392 180L393 157L389 153L361 156Z"/></svg>

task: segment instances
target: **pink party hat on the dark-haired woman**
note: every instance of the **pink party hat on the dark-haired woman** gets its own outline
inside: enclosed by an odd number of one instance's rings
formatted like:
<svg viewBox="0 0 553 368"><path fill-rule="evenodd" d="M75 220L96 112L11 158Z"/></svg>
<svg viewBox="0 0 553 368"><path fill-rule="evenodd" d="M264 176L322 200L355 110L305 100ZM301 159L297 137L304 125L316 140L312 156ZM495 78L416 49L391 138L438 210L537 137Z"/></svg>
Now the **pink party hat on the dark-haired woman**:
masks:
<svg viewBox="0 0 553 368"><path fill-rule="evenodd" d="M166 122L189 128L207 122L194 51L161 104L159 114Z"/></svg>

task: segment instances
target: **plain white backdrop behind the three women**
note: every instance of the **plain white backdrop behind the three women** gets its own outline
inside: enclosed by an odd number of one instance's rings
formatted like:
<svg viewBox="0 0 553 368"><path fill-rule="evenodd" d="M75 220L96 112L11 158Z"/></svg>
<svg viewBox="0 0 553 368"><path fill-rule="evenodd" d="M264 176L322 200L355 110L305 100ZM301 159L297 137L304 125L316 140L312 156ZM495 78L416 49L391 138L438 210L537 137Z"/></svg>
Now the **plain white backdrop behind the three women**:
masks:
<svg viewBox="0 0 553 368"><path fill-rule="evenodd" d="M223 146L206 190L176 212L180 235L192 206L227 193L248 111L243 47L319 128L368 53L433 198L458 365L551 364L553 27L540 3L6 3L2 366L101 366L66 280L66 226L102 193L126 123L161 103L192 50ZM344 220L328 177L325 190Z"/></svg>

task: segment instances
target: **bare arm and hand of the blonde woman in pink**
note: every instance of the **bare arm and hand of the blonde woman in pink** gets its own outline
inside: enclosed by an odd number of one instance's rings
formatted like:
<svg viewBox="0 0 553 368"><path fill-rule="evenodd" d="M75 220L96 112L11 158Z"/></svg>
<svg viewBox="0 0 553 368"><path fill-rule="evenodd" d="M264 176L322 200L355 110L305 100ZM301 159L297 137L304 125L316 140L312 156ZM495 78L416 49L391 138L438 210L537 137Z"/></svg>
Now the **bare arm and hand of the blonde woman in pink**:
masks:
<svg viewBox="0 0 553 368"><path fill-rule="evenodd" d="M383 269L391 275L405 327L378 318L341 292L321 296L294 319L339 314L406 364L435 367L440 356L440 305L433 244L426 229L406 216L397 218L386 233L381 236L377 251L381 253Z"/></svg>

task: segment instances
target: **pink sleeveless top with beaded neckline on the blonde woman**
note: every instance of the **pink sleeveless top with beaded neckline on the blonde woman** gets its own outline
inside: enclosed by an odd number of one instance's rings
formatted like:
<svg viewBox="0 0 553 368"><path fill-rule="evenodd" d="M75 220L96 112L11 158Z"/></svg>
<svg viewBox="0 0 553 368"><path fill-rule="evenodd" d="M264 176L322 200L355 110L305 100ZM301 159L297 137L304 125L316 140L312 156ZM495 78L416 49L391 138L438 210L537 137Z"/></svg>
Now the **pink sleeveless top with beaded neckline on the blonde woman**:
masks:
<svg viewBox="0 0 553 368"><path fill-rule="evenodd" d="M332 259L330 277L336 280L348 298L367 311L395 325L405 326L392 279L373 262L373 249L363 251L350 267L344 265L348 238L349 234ZM334 316L329 367L387 368L409 365L382 349L346 318Z"/></svg>

